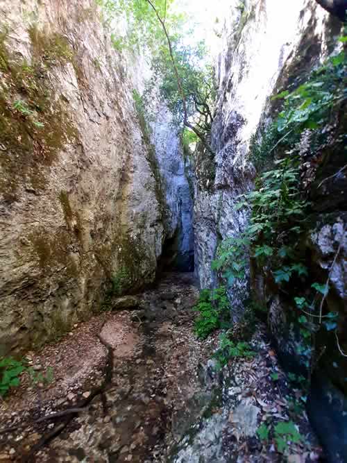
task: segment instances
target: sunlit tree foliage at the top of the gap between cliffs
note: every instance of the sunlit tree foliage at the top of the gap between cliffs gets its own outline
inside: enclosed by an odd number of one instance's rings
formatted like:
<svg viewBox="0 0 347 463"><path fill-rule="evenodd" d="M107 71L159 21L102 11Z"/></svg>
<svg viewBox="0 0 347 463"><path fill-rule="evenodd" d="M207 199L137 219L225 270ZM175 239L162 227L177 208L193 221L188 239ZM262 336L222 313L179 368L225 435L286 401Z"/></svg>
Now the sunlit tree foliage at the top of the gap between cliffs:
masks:
<svg viewBox="0 0 347 463"><path fill-rule="evenodd" d="M194 127L196 133L205 137L212 124L213 69L206 62L202 42L192 44L189 40L187 44L186 15L172 8L173 0L153 0L158 15L147 0L98 3L110 24L126 22L123 34L112 32L112 43L118 51L127 48L150 54L153 73L143 95L147 110L154 113L153 101L160 96L178 126Z"/></svg>

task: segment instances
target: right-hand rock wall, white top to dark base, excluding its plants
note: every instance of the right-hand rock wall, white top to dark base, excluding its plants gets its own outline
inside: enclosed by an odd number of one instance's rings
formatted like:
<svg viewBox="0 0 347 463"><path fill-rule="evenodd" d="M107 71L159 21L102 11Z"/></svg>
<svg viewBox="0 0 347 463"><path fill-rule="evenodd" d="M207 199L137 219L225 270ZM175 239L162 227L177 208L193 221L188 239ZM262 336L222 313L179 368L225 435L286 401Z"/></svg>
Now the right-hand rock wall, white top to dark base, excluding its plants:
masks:
<svg viewBox="0 0 347 463"><path fill-rule="evenodd" d="M235 204L239 194L253 188L256 172L249 161L251 137L259 133L260 127L266 128L276 115L278 107L270 97L305 81L310 71L332 53L339 35L341 22L313 0L230 2L217 63L214 156L200 152L198 160L204 161L196 163L194 228L202 287L221 283L211 271L217 244L226 237L237 237L247 224L246 212L236 210ZM340 462L347 458L347 364L343 354L347 352L347 184L341 137L346 133L344 108L339 108L332 119L329 142L319 151L302 156L303 172L305 162L307 166L313 163L316 176L310 186L313 213L303 246L310 276L324 283L330 273L331 286L325 303L328 311L339 313L339 345L334 333L319 336L316 344L319 357L314 358L308 411L329 460ZM335 176L338 171L341 174ZM251 271L248 267L246 273L244 280L229 287L233 318L241 316L252 287L269 310L269 328L282 362L289 371L303 371L301 356L296 353L300 340L291 323L295 308L278 288L266 283L260 269ZM319 412L323 408L325 412ZM329 428L335 430L334 438L329 437Z"/></svg>

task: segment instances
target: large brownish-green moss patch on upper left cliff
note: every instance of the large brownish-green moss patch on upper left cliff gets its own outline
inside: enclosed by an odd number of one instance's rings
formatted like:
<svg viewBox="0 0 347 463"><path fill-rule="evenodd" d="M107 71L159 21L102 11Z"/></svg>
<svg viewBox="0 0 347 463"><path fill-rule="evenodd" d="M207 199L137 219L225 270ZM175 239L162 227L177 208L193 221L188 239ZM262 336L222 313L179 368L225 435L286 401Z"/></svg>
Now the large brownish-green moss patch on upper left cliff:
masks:
<svg viewBox="0 0 347 463"><path fill-rule="evenodd" d="M65 37L46 36L32 27L33 56L27 62L12 55L7 35L7 31L0 33L0 192L11 203L24 183L33 190L44 189L44 167L78 138L78 131L65 99L51 82L51 69L73 57Z"/></svg>

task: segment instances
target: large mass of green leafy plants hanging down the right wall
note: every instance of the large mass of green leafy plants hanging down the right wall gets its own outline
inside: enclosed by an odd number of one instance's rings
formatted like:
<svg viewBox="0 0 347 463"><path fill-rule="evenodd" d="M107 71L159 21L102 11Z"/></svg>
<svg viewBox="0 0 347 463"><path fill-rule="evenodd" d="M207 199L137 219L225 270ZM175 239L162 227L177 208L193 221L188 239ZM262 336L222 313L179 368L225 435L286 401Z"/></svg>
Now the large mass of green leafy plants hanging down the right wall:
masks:
<svg viewBox="0 0 347 463"><path fill-rule="evenodd" d="M219 244L212 262L212 269L232 284L235 278L244 278L246 256L250 254L280 291L295 294L293 317L303 339L298 353L305 357L307 367L312 333L321 327L335 330L337 314L322 314L329 285L311 286L301 249L311 206L307 192L301 188L299 142L304 131L310 133L311 151L325 142L326 134L319 128L330 121L332 108L346 99L346 75L346 56L342 51L313 71L294 92L285 90L275 97L284 101L282 111L251 142L251 159L262 169L255 180L255 191L240 196L235 206L236 210L251 210L249 226L242 235ZM305 287L311 290L303 294Z"/></svg>

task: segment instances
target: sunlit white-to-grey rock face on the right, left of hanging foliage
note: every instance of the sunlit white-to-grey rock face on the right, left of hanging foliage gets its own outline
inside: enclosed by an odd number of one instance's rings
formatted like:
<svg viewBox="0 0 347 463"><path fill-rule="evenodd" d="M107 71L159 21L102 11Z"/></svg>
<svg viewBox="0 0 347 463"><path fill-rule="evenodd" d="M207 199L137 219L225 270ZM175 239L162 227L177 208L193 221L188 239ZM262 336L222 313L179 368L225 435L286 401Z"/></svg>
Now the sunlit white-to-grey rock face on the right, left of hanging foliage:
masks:
<svg viewBox="0 0 347 463"><path fill-rule="evenodd" d="M236 211L237 197L253 187L255 175L248 160L251 136L266 117L266 102L287 67L302 48L321 59L327 51L329 15L315 1L230 1L217 62L217 111L212 126L215 175L209 185L199 181L205 172L198 166L194 201L196 266L202 287L215 282L210 269L217 243L237 236L247 223ZM307 52L310 54L310 52ZM199 170L200 169L200 170ZM248 294L247 279L230 289L233 313L242 310Z"/></svg>

